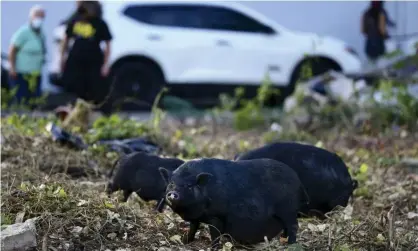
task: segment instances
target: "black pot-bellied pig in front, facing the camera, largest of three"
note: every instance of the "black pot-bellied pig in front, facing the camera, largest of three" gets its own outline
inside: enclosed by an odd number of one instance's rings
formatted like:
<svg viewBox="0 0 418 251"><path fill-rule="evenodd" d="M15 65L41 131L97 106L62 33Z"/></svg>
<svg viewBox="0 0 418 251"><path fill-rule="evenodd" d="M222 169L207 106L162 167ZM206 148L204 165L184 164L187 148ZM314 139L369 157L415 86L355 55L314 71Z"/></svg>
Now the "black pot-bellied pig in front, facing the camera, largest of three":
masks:
<svg viewBox="0 0 418 251"><path fill-rule="evenodd" d="M251 245L284 230L288 243L296 242L298 208L308 198L287 165L271 159L203 158L160 172L168 183L167 204L190 222L184 243L194 240L200 223L209 224L215 248L221 234Z"/></svg>

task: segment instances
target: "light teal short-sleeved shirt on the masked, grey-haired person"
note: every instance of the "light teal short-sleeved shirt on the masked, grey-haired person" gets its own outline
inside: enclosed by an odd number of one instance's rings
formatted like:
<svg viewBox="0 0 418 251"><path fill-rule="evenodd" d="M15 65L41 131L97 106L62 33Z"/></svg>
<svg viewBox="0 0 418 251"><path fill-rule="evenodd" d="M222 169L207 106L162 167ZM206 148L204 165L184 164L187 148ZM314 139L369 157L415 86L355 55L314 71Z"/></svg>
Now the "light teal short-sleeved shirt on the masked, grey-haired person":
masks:
<svg viewBox="0 0 418 251"><path fill-rule="evenodd" d="M44 34L36 33L29 24L21 26L12 36L11 44L17 47L17 73L41 72L44 63Z"/></svg>

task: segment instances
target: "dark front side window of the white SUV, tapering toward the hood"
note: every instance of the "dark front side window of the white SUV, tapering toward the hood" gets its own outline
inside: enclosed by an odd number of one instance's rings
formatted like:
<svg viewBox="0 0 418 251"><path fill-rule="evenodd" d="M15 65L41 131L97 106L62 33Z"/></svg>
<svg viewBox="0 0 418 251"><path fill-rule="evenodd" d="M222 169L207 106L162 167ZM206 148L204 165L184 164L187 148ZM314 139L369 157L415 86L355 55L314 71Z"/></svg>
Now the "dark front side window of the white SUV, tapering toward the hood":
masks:
<svg viewBox="0 0 418 251"><path fill-rule="evenodd" d="M205 20L204 28L206 29L251 33L266 32L265 25L235 10L217 6L201 8Z"/></svg>

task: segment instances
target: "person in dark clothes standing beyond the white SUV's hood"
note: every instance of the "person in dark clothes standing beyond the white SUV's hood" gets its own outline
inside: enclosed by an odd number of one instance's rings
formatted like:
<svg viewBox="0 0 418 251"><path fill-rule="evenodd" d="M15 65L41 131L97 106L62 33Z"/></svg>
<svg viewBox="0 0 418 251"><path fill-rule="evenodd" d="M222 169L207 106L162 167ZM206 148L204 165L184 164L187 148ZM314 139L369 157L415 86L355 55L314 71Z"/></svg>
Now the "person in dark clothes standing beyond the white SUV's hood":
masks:
<svg viewBox="0 0 418 251"><path fill-rule="evenodd" d="M366 38L365 52L371 62L376 62L385 54L385 40L389 37L386 30L387 15L382 1L371 1L364 12L361 32Z"/></svg>

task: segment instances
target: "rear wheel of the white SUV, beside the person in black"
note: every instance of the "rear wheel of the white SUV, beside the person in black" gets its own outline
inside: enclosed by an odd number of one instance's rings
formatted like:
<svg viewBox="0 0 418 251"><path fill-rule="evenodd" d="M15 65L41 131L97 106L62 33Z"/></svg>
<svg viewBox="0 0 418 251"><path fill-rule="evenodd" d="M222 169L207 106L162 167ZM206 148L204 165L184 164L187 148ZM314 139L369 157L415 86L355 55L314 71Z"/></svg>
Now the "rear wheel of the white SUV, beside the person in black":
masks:
<svg viewBox="0 0 418 251"><path fill-rule="evenodd" d="M164 76L155 66L138 61L122 63L114 70L110 78L111 106L112 108L128 106L127 109L130 107L138 109L139 106L147 110L151 109L164 85ZM134 105L123 104L126 98L132 98L135 101ZM104 106L109 106L109 104Z"/></svg>

